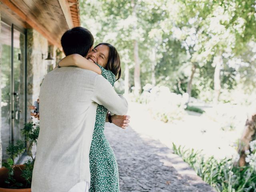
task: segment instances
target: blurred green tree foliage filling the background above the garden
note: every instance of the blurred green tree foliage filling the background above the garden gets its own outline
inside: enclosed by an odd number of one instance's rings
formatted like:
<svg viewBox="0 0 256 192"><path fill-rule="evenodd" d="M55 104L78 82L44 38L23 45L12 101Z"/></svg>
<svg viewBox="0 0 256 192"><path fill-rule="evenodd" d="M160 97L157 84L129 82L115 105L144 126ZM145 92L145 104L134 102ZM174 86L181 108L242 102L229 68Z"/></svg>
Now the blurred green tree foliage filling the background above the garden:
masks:
<svg viewBox="0 0 256 192"><path fill-rule="evenodd" d="M222 89L232 90L241 83L244 89L255 88L255 51L248 48L255 42L254 0L81 0L80 15L96 44L106 41L116 46L122 69L125 65L130 69L130 89L134 40L139 46L142 87L152 83L155 74L157 86L183 94L195 66L191 96L212 101L214 58L221 55ZM232 64L232 60L241 61Z"/></svg>

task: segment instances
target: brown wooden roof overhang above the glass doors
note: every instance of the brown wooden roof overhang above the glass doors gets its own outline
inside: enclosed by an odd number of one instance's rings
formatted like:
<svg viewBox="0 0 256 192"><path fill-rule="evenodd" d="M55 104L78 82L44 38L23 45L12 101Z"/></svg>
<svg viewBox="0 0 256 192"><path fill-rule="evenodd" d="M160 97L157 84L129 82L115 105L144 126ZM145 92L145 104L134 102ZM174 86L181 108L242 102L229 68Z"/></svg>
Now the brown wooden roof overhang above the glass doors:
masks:
<svg viewBox="0 0 256 192"><path fill-rule="evenodd" d="M80 26L78 0L0 0L1 19L33 28L60 47L62 34Z"/></svg>

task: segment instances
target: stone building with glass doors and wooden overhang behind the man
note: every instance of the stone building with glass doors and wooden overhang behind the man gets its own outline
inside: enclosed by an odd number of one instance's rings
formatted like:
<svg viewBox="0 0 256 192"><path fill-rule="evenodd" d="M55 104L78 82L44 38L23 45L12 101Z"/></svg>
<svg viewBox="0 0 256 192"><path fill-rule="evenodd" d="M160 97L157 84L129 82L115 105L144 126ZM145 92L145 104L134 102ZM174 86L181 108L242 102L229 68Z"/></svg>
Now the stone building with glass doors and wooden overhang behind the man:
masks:
<svg viewBox="0 0 256 192"><path fill-rule="evenodd" d="M20 130L44 76L64 57L62 34L80 25L78 0L25 2L0 0L0 167L6 147L24 139Z"/></svg>

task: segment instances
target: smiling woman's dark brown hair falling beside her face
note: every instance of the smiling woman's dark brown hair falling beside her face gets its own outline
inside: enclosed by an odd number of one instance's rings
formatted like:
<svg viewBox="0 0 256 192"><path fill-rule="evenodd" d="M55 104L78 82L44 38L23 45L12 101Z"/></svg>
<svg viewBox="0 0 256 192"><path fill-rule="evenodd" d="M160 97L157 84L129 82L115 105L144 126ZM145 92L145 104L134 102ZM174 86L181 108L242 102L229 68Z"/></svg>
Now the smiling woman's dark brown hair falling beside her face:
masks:
<svg viewBox="0 0 256 192"><path fill-rule="evenodd" d="M114 46L112 46L109 43L100 43L96 45L94 48L96 48L99 45L106 45L109 47L109 54L108 54L108 62L106 65L106 70L110 70L115 76L117 76L117 79L120 79L121 77L121 61L119 54Z"/></svg>

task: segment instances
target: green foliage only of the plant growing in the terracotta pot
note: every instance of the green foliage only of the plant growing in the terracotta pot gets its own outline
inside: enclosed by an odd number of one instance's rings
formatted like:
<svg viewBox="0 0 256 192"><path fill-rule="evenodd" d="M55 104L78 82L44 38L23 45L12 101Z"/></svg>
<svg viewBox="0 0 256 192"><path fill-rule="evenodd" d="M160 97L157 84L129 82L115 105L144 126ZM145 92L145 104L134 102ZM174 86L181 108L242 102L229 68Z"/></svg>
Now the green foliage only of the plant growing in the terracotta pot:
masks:
<svg viewBox="0 0 256 192"><path fill-rule="evenodd" d="M39 124L33 124L28 122L24 124L24 128L21 130L22 135L25 140L18 140L16 144L10 144L6 152L9 155L9 158L6 162L3 163L3 166L8 169L8 178L5 180L7 188L17 189L17 188L30 188L32 181L32 171L34 167L34 157L31 152L32 146L37 144L37 138L39 134ZM26 144L26 145L25 145ZM27 153L30 158L24 162L24 168L21 169L14 162L18 158L18 164L20 163L20 157L22 154ZM14 178L14 168L20 168L22 171L21 176L26 181L26 184L19 183Z"/></svg>

